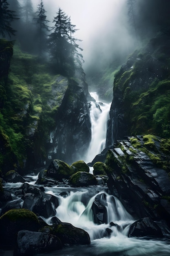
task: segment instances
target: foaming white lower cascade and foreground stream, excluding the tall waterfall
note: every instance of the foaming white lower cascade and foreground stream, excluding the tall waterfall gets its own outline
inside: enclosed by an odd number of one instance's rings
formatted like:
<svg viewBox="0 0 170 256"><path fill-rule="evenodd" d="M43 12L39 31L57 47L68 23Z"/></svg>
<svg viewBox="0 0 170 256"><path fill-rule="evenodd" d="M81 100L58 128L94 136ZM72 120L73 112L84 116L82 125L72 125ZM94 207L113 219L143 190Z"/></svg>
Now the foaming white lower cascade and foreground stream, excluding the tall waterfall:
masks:
<svg viewBox="0 0 170 256"><path fill-rule="evenodd" d="M146 240L142 238L128 238L130 224L135 220L124 209L121 202L113 195L108 195L102 188L45 188L46 193L53 194L59 199L56 216L62 222L69 222L75 227L86 230L91 238L91 245L63 249L49 255L60 256L169 256L170 244L163 240ZM64 198L59 194L69 191ZM105 194L107 223L97 225L93 221L92 204L97 195ZM51 218L46 220L50 224ZM118 226L110 226L114 222ZM106 237L106 229L111 229L110 237Z"/></svg>

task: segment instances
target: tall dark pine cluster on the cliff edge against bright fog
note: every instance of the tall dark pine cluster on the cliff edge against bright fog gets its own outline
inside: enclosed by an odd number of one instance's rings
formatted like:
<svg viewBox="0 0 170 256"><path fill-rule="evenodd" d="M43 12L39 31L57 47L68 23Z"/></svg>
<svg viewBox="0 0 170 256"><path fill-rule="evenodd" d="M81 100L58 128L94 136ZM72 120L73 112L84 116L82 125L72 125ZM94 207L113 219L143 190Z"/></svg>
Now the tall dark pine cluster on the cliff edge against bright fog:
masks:
<svg viewBox="0 0 170 256"><path fill-rule="evenodd" d="M57 64L58 72L71 75L75 72L75 56L77 58L78 49L81 49L76 43L77 39L73 37L77 29L60 8L53 22L55 24L52 27L52 33L49 35L51 58Z"/></svg>

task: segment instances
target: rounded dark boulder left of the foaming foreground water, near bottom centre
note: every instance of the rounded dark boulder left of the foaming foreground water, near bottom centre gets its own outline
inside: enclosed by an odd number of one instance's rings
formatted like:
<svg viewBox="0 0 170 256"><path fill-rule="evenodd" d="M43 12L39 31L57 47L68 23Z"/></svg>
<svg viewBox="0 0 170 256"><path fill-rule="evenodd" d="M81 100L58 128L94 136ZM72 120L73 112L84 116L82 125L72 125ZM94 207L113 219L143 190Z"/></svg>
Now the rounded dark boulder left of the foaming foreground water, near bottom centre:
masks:
<svg viewBox="0 0 170 256"><path fill-rule="evenodd" d="M70 223L60 223L53 229L53 234L60 238L62 244L89 245L91 243L88 233Z"/></svg>

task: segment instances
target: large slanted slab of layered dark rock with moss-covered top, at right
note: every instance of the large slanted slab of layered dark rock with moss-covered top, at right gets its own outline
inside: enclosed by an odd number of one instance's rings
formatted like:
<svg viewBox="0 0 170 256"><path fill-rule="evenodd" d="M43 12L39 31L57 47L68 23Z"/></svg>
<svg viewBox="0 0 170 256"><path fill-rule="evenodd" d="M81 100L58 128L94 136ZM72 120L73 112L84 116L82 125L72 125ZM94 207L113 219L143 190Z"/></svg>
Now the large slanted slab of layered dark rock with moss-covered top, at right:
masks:
<svg viewBox="0 0 170 256"><path fill-rule="evenodd" d="M166 220L170 226L170 157L162 152L163 141L150 135L118 141L108 150L106 165L111 193L135 219Z"/></svg>

